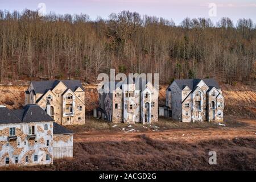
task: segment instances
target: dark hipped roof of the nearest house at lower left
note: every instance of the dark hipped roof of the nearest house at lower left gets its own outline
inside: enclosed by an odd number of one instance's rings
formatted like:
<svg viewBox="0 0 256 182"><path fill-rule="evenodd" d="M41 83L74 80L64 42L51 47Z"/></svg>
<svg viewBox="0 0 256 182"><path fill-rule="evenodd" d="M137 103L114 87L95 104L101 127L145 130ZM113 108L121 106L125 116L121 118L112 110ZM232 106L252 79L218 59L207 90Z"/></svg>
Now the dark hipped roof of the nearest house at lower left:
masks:
<svg viewBox="0 0 256 182"><path fill-rule="evenodd" d="M26 105L23 109L10 110L0 107L0 123L29 123L53 121L46 111L38 105Z"/></svg>

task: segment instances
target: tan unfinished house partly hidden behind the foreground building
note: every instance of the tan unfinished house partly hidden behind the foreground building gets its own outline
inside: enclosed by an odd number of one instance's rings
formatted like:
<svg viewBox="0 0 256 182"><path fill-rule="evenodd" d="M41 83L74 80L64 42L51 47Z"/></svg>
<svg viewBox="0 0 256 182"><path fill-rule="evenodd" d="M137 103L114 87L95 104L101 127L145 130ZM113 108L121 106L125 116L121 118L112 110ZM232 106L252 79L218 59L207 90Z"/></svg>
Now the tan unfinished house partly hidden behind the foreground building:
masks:
<svg viewBox="0 0 256 182"><path fill-rule="evenodd" d="M39 105L60 125L85 123L85 90L79 80L32 81L26 104Z"/></svg>

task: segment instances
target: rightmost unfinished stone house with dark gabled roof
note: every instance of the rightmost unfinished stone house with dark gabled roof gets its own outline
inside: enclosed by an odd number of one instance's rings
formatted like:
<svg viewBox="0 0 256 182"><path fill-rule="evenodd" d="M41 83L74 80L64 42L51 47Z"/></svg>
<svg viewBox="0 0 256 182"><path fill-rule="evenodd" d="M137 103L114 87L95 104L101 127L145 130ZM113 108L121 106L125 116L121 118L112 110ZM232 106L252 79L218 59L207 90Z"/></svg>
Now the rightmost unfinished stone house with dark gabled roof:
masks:
<svg viewBox="0 0 256 182"><path fill-rule="evenodd" d="M223 110L220 86L211 78L174 80L166 89L166 117L182 122L221 122Z"/></svg>

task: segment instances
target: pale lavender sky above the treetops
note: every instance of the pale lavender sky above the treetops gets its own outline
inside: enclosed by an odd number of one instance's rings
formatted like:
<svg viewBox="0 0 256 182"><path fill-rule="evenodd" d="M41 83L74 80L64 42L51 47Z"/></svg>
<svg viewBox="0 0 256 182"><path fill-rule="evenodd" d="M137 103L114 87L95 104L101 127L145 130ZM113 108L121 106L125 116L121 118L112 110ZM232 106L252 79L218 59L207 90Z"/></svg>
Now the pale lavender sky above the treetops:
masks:
<svg viewBox="0 0 256 182"><path fill-rule="evenodd" d="M185 18L210 18L216 22L227 16L236 24L239 18L251 18L256 22L256 0L0 0L1 10L36 10L39 3L46 5L46 13L88 14L91 20L101 16L108 18L111 13L122 10L136 11L141 15L150 15L173 19L176 24ZM216 5L216 16L210 16L210 3ZM211 11L212 12L212 11ZM211 14L213 15L213 14Z"/></svg>

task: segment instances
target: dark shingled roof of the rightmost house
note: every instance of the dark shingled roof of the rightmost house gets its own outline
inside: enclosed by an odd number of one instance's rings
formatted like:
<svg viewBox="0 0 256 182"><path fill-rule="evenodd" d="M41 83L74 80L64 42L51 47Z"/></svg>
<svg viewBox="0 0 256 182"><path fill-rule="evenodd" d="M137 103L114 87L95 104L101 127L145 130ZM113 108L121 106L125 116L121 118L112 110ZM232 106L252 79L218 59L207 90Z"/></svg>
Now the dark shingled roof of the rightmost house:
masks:
<svg viewBox="0 0 256 182"><path fill-rule="evenodd" d="M194 90L197 84L203 80L207 86L215 87L216 89L220 89L220 86L218 86L218 83L213 78L207 78L207 79L181 79L181 80L174 80L176 84L179 86L181 90L185 88L185 86L188 86L189 89Z"/></svg>

